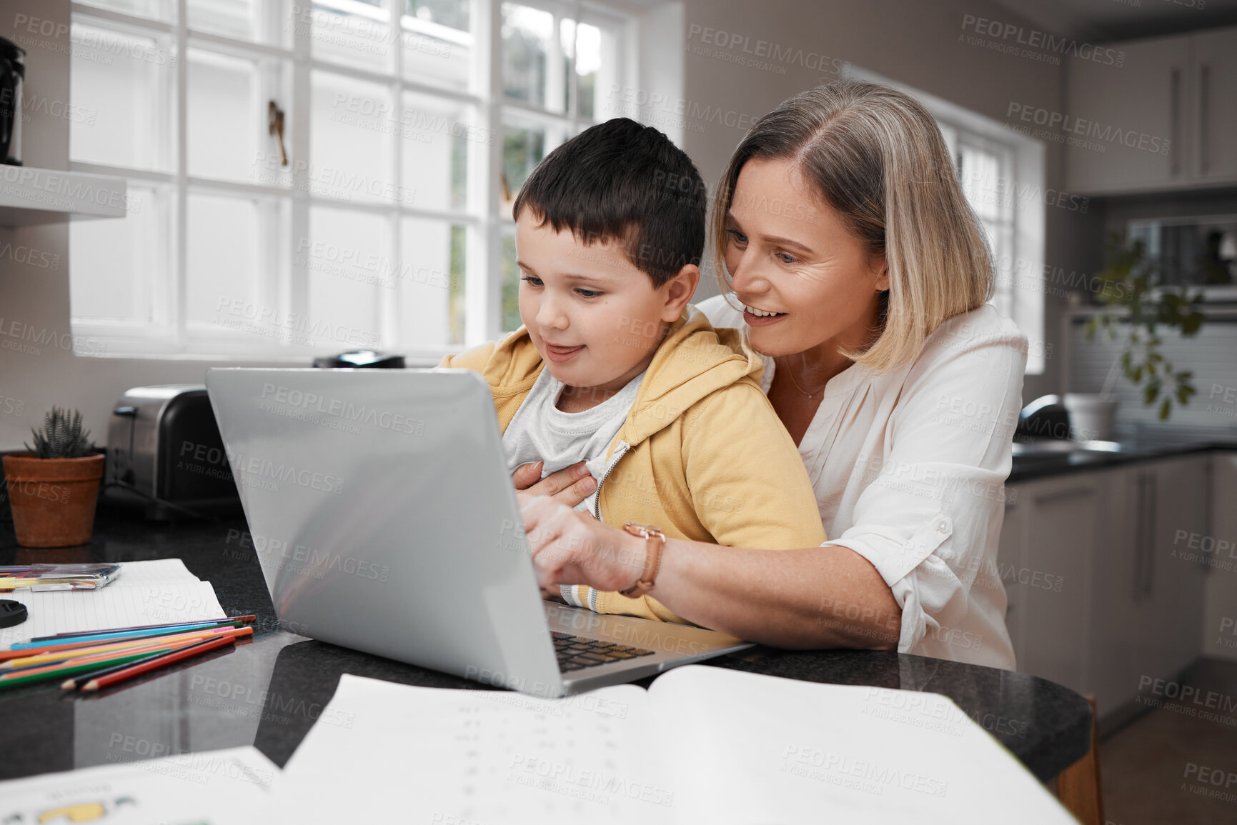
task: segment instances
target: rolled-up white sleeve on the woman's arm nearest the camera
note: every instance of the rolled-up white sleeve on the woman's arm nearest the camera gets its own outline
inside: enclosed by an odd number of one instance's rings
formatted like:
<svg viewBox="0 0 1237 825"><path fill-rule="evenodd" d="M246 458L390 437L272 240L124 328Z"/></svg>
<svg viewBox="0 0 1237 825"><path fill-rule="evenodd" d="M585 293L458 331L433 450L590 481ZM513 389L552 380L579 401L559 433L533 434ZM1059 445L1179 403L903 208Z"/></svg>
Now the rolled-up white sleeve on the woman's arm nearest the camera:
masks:
<svg viewBox="0 0 1237 825"><path fill-rule="evenodd" d="M938 330L858 456L854 519L825 543L855 550L889 585L899 652L1012 667L996 553L1025 361L1012 327ZM992 599L971 599L977 579ZM985 651L995 635L1002 649Z"/></svg>

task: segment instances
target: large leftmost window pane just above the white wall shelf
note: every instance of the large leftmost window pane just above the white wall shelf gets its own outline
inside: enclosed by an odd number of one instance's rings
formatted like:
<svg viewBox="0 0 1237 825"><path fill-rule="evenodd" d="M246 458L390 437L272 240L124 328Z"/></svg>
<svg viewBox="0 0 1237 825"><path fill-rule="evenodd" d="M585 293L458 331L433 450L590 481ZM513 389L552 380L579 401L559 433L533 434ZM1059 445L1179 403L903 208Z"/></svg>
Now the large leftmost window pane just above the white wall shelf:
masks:
<svg viewBox="0 0 1237 825"><path fill-rule="evenodd" d="M169 41L111 24L73 21L69 125L74 161L171 172L176 54Z"/></svg>

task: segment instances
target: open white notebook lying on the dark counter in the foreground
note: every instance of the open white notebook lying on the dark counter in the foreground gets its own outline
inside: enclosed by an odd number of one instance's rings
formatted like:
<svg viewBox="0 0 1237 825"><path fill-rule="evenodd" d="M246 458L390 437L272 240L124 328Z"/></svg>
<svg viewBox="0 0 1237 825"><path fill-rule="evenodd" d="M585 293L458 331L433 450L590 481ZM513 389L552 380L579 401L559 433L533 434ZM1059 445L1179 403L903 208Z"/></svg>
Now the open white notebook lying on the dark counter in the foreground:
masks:
<svg viewBox="0 0 1237 825"><path fill-rule="evenodd" d="M944 696L701 665L557 700L344 674L275 797L288 823L1074 823Z"/></svg>

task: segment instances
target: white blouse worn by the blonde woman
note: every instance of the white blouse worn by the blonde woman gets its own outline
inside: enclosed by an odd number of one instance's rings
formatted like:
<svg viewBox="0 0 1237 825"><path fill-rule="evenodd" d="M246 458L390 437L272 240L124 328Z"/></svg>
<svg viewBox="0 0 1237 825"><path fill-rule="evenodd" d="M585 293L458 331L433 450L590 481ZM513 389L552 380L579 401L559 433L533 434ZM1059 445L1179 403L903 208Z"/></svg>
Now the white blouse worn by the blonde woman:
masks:
<svg viewBox="0 0 1237 825"><path fill-rule="evenodd" d="M722 296L699 309L746 330ZM902 607L899 653L1014 668L997 570L1027 338L985 306L941 324L919 357L824 388L799 456L829 541L880 571ZM773 359L764 359L768 393ZM855 605L821 605L826 621Z"/></svg>

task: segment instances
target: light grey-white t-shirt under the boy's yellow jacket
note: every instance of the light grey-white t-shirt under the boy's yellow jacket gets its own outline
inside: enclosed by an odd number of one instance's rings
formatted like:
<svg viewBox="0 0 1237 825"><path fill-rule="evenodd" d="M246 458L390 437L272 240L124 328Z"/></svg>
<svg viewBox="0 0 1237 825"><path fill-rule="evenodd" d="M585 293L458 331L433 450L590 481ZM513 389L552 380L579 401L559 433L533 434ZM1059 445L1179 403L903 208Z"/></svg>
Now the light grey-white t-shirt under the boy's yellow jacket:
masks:
<svg viewBox="0 0 1237 825"><path fill-rule="evenodd" d="M542 460L546 463L542 468L544 479L584 460L589 472L600 482L606 472L606 448L627 421L643 378L641 372L591 409L565 413L554 406L565 385L543 369L502 433L507 472L515 472L521 464ZM575 510L594 512L596 497L594 491Z"/></svg>

